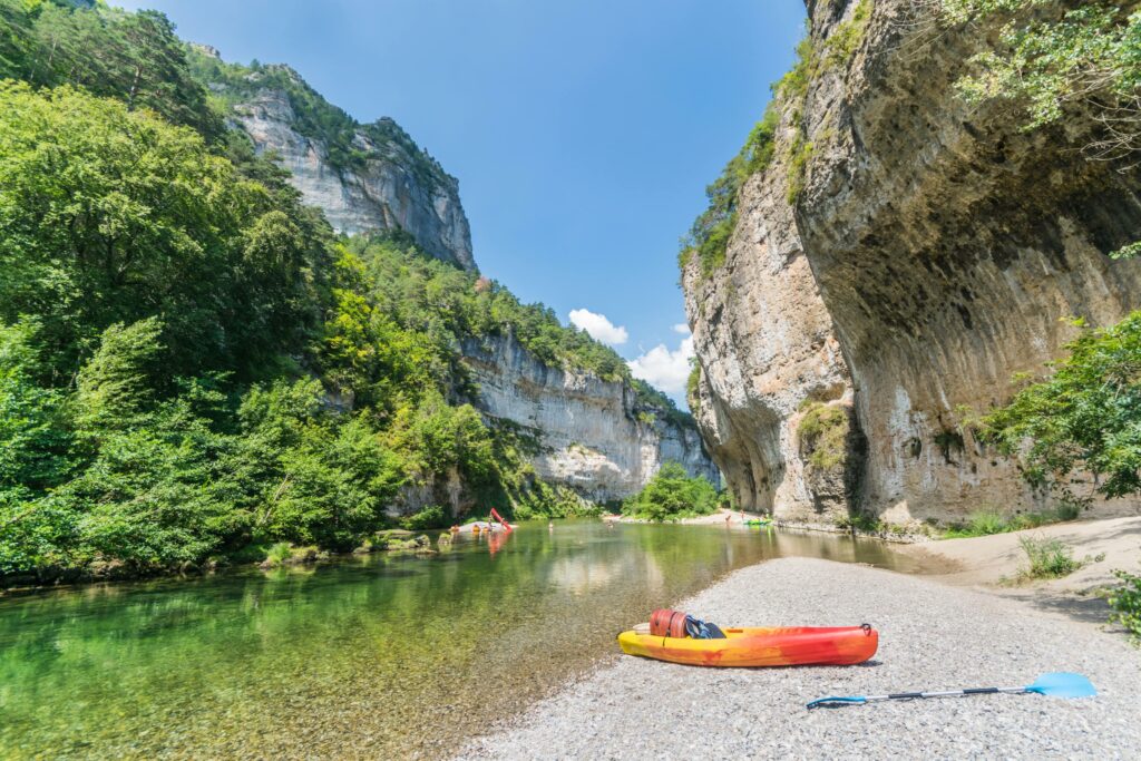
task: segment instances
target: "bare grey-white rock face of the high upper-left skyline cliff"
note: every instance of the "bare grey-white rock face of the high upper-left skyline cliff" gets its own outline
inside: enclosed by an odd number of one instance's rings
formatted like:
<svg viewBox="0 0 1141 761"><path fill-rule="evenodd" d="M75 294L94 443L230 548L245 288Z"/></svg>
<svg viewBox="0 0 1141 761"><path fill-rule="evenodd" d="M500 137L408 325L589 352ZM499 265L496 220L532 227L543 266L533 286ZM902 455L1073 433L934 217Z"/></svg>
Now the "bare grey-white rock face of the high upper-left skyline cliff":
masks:
<svg viewBox="0 0 1141 761"><path fill-rule="evenodd" d="M400 229L437 259L476 268L458 183L418 173L420 157L403 146L359 130L353 148L367 157L358 167L338 170L329 161L327 146L297 130L297 116L282 90L259 90L234 107L234 120L259 153L278 156L305 203L322 209L337 232Z"/></svg>

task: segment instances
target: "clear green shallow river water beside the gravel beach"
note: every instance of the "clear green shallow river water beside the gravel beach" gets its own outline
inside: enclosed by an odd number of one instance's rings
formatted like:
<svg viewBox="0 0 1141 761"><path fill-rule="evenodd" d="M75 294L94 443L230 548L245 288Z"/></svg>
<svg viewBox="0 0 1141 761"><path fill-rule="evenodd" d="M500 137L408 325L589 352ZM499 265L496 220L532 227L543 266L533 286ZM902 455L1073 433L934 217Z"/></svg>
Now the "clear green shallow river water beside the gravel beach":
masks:
<svg viewBox="0 0 1141 761"><path fill-rule="evenodd" d="M873 541L560 521L494 554L469 539L0 599L0 758L438 755L616 654L652 608L782 556L912 569Z"/></svg>

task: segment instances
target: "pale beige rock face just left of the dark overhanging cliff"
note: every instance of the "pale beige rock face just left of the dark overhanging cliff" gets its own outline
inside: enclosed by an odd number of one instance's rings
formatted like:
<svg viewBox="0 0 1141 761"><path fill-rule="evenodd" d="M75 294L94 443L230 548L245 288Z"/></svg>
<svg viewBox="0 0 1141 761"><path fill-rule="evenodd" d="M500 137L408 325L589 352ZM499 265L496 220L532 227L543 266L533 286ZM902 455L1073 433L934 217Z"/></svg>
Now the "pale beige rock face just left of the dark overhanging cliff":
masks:
<svg viewBox="0 0 1141 761"><path fill-rule="evenodd" d="M844 479L812 472L798 424L806 404L850 407L852 388L786 195L784 172L753 177L725 265L706 276L694 257L682 274L702 370L690 406L738 504L827 521L847 512Z"/></svg>

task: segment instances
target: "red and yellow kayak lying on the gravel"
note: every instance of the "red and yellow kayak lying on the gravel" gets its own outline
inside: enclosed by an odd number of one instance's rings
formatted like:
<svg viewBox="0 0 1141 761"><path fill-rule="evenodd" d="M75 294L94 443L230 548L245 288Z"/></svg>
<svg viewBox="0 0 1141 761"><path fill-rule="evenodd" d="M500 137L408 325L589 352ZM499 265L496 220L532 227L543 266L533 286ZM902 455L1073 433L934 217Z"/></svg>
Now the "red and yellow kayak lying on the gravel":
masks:
<svg viewBox="0 0 1141 761"><path fill-rule="evenodd" d="M871 626L726 629L725 639L656 637L626 631L618 645L639 655L693 666L845 666L864 663L880 646Z"/></svg>

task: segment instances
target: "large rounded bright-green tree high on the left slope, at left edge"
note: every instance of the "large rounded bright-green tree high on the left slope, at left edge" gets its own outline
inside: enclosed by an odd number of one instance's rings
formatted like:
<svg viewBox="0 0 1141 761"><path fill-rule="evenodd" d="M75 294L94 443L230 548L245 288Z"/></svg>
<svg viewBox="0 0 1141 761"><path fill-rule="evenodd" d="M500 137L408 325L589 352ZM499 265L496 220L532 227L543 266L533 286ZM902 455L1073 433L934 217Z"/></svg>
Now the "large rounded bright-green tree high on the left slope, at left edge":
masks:
<svg viewBox="0 0 1141 761"><path fill-rule="evenodd" d="M114 323L161 315L176 374L297 350L323 230L195 132L70 88L0 82L0 319L35 315L70 377Z"/></svg>

